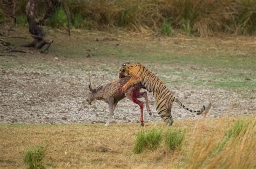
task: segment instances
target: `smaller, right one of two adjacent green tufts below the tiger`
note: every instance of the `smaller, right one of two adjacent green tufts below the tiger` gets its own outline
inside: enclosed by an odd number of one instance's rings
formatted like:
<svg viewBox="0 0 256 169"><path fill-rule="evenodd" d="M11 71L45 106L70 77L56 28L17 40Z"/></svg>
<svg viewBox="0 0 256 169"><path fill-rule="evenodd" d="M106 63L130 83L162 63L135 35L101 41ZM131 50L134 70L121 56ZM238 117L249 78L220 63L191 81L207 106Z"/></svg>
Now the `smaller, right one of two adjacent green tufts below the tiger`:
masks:
<svg viewBox="0 0 256 169"><path fill-rule="evenodd" d="M180 147L184 140L185 131L170 128L166 132L166 145L171 150L176 150Z"/></svg>

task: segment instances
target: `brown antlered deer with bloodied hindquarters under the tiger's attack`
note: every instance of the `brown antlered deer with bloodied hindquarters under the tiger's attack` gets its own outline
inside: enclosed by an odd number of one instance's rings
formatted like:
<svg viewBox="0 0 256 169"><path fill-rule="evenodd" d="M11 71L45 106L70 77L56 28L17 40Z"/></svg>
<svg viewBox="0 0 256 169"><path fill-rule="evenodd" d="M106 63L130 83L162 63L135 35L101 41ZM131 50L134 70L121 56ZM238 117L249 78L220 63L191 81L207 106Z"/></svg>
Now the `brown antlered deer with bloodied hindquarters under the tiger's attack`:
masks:
<svg viewBox="0 0 256 169"><path fill-rule="evenodd" d="M134 85L129 88L126 93L122 92L122 87L125 85L127 81L130 80L130 76L126 76L124 73L124 69L120 69L119 71L119 79L116 79L112 82L107 83L106 85L102 85L104 81L104 75L102 82L96 88L92 88L91 85L91 77L96 76L95 74L90 75L89 77L89 94L87 95L86 101L91 105L91 103L95 100L102 100L109 104L109 118L105 126L109 126L111 122L111 118L113 116L113 111L117 106L117 103L123 98L127 97L132 102L136 103L140 107L140 125L144 126L143 121L143 102L138 100L138 98L144 97L146 101L146 109L149 115L151 116L151 110L149 107L149 100L147 98L147 92L140 92L141 88L145 88L142 85Z"/></svg>

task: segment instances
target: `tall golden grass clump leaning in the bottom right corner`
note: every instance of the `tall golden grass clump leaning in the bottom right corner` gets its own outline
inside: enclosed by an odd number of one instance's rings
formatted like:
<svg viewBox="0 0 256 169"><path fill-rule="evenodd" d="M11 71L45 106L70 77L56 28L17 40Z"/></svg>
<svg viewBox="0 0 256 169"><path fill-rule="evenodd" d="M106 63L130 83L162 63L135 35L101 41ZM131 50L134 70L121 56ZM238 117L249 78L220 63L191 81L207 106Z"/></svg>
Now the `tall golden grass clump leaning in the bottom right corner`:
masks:
<svg viewBox="0 0 256 169"><path fill-rule="evenodd" d="M225 129L228 124L220 121L211 133L201 125L186 149L190 158L184 168L254 168L255 122L255 117L238 119Z"/></svg>

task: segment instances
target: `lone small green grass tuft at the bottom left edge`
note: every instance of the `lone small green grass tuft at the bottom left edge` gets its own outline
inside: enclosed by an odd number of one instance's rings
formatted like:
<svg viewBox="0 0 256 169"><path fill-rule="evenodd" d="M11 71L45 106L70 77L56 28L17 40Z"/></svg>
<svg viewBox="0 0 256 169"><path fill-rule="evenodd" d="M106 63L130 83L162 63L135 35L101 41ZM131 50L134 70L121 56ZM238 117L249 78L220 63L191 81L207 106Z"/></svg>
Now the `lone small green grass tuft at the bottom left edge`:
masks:
<svg viewBox="0 0 256 169"><path fill-rule="evenodd" d="M44 168L45 147L35 146L25 152L24 163L28 168Z"/></svg>

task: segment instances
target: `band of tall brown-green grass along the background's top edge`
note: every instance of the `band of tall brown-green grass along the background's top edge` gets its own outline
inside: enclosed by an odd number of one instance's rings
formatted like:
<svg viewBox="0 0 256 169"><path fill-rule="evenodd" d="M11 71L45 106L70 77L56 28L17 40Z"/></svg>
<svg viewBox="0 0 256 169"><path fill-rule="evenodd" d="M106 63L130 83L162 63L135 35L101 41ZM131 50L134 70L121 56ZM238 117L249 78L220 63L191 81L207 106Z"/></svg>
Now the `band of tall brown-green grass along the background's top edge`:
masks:
<svg viewBox="0 0 256 169"><path fill-rule="evenodd" d="M19 2L17 13L23 15L25 0ZM123 27L129 30L150 29L163 33L172 23L173 29L185 34L211 36L215 32L254 34L256 32L256 1L253 0L125 0L125 1L67 1L75 28L106 29ZM41 6L46 6L43 3ZM43 11L43 10L42 10ZM221 15L220 15L221 14ZM55 17L62 20L64 13L58 9ZM59 23L48 22L59 27ZM51 20L50 19L50 20ZM79 23L78 23L79 22ZM166 27L167 26L167 27ZM167 31L168 32L168 31ZM170 36L166 30L163 34ZM167 33L167 34L166 34Z"/></svg>

